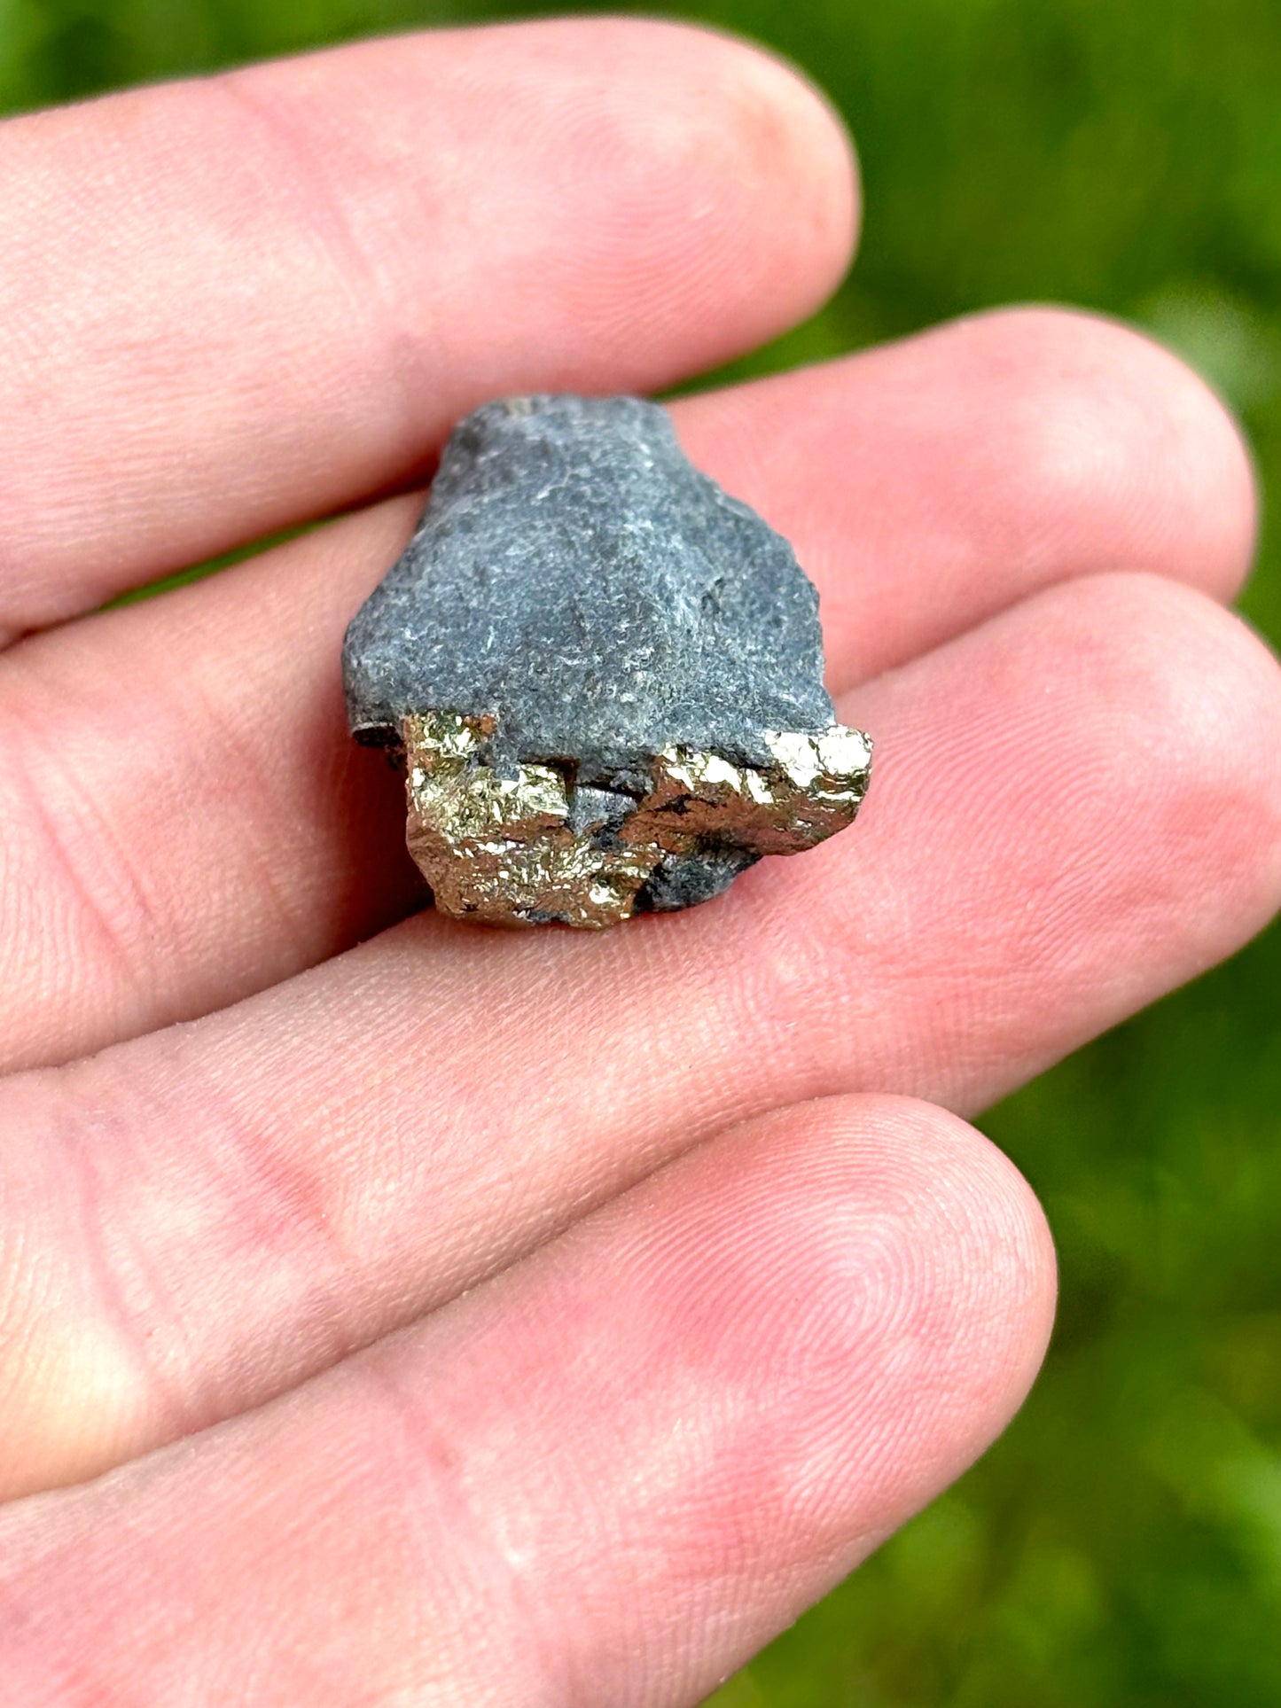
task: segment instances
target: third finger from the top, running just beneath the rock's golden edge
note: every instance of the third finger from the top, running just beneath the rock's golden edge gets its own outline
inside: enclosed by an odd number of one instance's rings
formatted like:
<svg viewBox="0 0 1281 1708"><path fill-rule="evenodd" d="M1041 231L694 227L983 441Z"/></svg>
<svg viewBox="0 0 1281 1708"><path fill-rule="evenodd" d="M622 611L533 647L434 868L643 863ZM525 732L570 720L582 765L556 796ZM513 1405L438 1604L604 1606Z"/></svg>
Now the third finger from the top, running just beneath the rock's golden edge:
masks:
<svg viewBox="0 0 1281 1708"><path fill-rule="evenodd" d="M436 915L0 1091L0 1414L27 1479L258 1404L762 1108L974 1108L1281 898L1281 676L1153 577L844 702L864 816L606 938ZM34 1254L34 1255L32 1255Z"/></svg>

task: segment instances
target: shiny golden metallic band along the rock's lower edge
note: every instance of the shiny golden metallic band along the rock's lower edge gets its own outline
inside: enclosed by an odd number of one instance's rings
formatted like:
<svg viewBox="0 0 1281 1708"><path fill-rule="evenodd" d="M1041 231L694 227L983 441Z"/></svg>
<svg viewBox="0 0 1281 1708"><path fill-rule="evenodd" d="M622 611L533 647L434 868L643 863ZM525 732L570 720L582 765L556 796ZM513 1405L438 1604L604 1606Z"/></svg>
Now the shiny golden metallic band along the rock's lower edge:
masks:
<svg viewBox="0 0 1281 1708"><path fill-rule="evenodd" d="M529 926L548 919L601 929L627 919L668 856L731 845L796 854L844 830L868 787L871 741L859 729L765 736L772 765L670 746L652 789L617 827L570 827L572 767L521 765L499 777L482 762L492 717L413 712L401 724L410 854L459 919Z"/></svg>

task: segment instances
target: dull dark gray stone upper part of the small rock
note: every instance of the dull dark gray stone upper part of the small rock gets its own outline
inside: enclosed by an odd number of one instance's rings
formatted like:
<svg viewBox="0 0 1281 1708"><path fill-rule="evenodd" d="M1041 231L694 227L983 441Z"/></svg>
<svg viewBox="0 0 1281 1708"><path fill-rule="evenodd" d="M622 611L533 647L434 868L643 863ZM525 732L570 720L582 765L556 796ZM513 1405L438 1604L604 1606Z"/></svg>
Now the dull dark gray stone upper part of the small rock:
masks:
<svg viewBox="0 0 1281 1708"><path fill-rule="evenodd" d="M487 403L446 446L400 562L347 632L352 731L492 714L490 762L577 760L644 794L670 743L769 760L832 722L818 594L793 548L700 475L639 398Z"/></svg>

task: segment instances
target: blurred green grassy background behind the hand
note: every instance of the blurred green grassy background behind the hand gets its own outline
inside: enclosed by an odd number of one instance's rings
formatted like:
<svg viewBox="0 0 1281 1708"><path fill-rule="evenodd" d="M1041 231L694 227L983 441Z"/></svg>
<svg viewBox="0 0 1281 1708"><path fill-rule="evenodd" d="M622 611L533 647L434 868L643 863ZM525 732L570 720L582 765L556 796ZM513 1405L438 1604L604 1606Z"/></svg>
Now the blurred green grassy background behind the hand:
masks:
<svg viewBox="0 0 1281 1708"><path fill-rule="evenodd" d="M863 155L854 278L734 372L1009 299L1079 302L1197 366L1281 490L1276 0L676 10L806 67ZM497 12L0 0L0 104ZM1247 608L1281 639L1276 529ZM987 1459L717 1708L1281 1705L1278 992L1272 931L987 1117L1059 1242L1040 1385Z"/></svg>

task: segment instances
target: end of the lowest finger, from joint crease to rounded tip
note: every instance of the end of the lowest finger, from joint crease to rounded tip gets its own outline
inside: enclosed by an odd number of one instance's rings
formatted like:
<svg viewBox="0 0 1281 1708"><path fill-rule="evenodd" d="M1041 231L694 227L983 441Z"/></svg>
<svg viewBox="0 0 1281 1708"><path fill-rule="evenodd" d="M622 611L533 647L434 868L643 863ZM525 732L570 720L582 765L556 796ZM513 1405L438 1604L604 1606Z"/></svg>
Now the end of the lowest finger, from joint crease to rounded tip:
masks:
<svg viewBox="0 0 1281 1708"><path fill-rule="evenodd" d="M834 1097L659 1170L488 1301L459 1301L447 1332L475 1332L518 1290L519 1337L495 1322L485 1344L500 1394L528 1404L541 1387L536 1411L559 1419L535 1455L553 1587L536 1652L555 1655L562 1691L589 1674L611 1701L625 1681L603 1657L644 1652L663 1681L652 1699L676 1703L1004 1428L1045 1348L1054 1255L1027 1184L955 1115ZM627 1607L598 1600L567 1626L584 1580L610 1576L640 1585ZM712 1607L714 1636L690 1647Z"/></svg>

